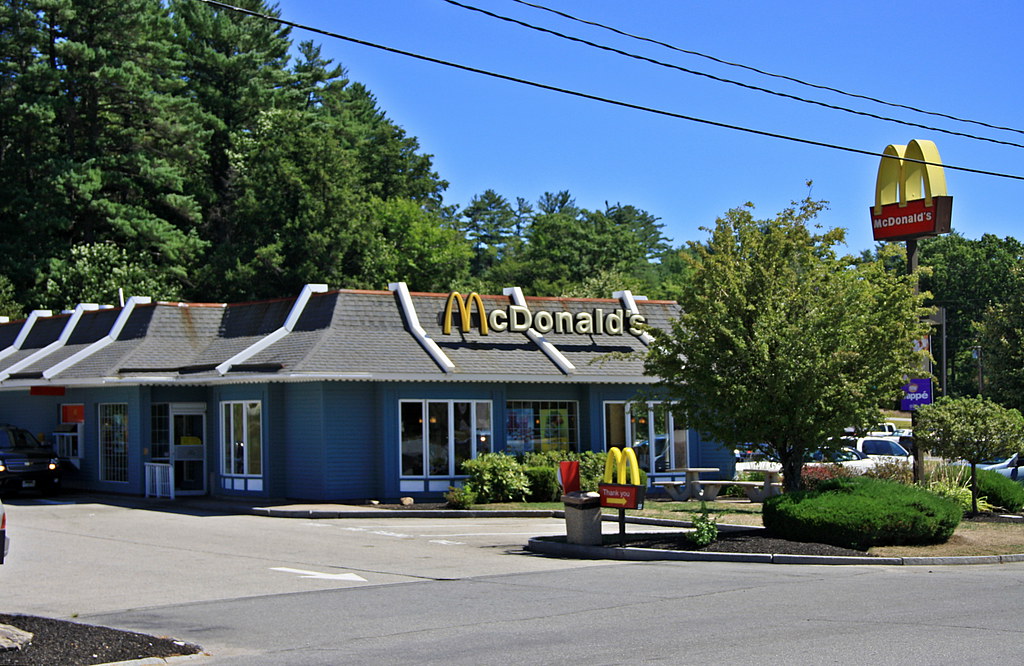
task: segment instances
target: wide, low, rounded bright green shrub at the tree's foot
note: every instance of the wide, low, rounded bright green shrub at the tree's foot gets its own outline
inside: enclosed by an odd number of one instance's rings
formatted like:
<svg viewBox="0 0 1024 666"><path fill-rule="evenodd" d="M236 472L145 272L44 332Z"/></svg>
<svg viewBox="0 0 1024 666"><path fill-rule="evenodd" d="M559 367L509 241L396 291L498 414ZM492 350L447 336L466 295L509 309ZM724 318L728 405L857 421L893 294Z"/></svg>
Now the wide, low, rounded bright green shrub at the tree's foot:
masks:
<svg viewBox="0 0 1024 666"><path fill-rule="evenodd" d="M762 519L774 536L867 550L942 543L963 517L959 506L915 486L878 478L836 478L817 490L765 500Z"/></svg>

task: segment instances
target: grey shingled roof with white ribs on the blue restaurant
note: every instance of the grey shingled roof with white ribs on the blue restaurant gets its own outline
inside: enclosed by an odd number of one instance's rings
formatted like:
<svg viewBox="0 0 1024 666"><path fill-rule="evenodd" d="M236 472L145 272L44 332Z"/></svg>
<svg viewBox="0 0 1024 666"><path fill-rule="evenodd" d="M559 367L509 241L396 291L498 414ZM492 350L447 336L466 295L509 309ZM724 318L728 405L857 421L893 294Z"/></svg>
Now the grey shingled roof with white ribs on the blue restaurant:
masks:
<svg viewBox="0 0 1024 666"><path fill-rule="evenodd" d="M307 285L295 298L251 303L167 303L131 299L124 307L79 306L35 313L0 324L0 389L53 385L205 384L238 382L544 381L647 383L639 355L645 341L629 330L575 326L544 334L487 327L470 309L464 327L449 294L328 291ZM668 328L679 314L670 301L524 298L518 290L481 296L501 324L514 305L548 326L567 321L629 322L640 315ZM472 299L467 301L472 305ZM557 314L567 314L558 316ZM480 320L484 320L481 326ZM468 328L468 330L465 330ZM507 327L512 328L512 327ZM539 323L537 328L545 329ZM563 328L563 327L562 327ZM628 325L620 328L628 329ZM634 331L636 333L637 331Z"/></svg>

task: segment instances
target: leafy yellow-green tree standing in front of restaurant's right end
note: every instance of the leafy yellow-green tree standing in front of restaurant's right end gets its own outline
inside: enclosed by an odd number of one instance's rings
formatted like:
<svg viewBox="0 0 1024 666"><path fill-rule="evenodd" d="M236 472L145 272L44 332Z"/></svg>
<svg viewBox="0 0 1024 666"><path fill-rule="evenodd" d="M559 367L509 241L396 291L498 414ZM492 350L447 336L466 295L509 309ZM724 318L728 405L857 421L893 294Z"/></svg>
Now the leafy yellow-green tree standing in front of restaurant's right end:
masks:
<svg viewBox="0 0 1024 666"><path fill-rule="evenodd" d="M720 218L683 257L683 314L651 331L645 362L689 426L726 447L763 443L791 491L808 451L877 422L901 394L925 331L910 279L838 256L842 230L810 231L823 207L808 199L774 219L750 209Z"/></svg>

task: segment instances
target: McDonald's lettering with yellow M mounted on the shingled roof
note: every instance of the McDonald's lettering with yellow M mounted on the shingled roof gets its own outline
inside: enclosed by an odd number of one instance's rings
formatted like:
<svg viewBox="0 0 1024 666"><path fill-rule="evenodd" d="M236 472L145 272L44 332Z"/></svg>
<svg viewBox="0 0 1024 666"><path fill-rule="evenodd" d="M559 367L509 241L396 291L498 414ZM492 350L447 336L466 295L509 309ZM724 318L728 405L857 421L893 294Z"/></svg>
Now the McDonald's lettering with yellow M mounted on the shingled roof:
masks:
<svg viewBox="0 0 1024 666"><path fill-rule="evenodd" d="M525 305L509 304L487 310L483 299L475 291L463 297L458 291L449 294L441 315L441 332L452 333L452 320L458 315L459 327L463 333L473 328L473 309L476 309L476 325L480 335L490 331L503 333L525 333L532 329L538 333L575 333L577 335L643 335L641 326L646 323L643 315L631 314L621 308L595 307L590 311L568 313L547 310L534 311Z"/></svg>

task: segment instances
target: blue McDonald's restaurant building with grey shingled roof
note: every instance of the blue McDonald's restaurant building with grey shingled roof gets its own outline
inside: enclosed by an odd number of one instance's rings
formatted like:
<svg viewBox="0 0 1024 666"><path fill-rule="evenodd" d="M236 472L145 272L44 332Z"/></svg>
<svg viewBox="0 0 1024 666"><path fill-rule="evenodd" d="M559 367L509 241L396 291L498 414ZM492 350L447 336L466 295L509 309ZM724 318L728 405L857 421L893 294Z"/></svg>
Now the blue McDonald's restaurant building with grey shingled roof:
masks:
<svg viewBox="0 0 1024 666"><path fill-rule="evenodd" d="M307 285L240 304L80 304L0 322L0 422L65 486L130 495L437 499L487 452L635 447L653 480L731 453L657 401L641 325L673 302ZM620 353L615 353L620 352Z"/></svg>

